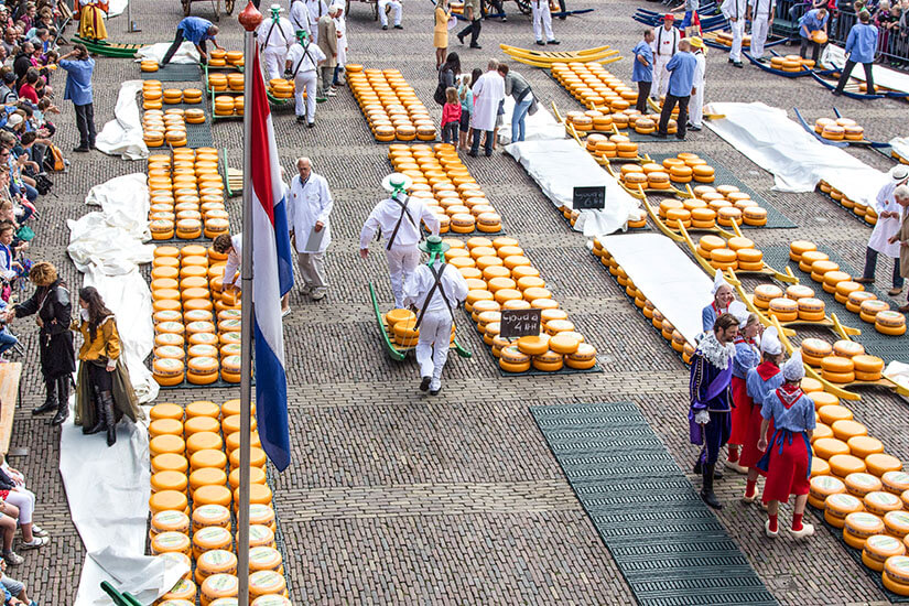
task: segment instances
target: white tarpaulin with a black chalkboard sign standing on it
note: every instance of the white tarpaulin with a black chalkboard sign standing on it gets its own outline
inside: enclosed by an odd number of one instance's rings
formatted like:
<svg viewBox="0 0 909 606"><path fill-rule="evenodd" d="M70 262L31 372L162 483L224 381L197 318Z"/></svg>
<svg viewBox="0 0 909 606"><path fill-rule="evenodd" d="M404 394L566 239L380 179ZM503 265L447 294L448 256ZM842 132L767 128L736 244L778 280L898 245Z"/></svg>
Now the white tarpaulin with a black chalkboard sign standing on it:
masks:
<svg viewBox="0 0 909 606"><path fill-rule="evenodd" d="M573 139L521 141L505 151L521 163L556 208L572 207L575 187L606 188L606 208L582 210L575 223L574 228L587 237L618 231L629 217L638 216L638 201Z"/></svg>

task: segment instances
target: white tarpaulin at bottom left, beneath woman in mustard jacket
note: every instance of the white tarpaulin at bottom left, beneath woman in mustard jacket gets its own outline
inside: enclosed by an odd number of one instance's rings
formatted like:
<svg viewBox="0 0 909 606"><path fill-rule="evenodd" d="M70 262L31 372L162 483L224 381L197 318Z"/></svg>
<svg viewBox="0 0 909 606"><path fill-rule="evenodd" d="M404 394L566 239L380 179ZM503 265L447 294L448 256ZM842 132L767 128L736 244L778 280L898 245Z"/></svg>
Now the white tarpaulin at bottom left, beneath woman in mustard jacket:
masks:
<svg viewBox="0 0 909 606"><path fill-rule="evenodd" d="M117 443L108 447L102 435L84 435L71 416L59 453L69 515L88 553L75 606L110 604L101 581L152 604L187 570L143 555L151 495L147 428L120 423Z"/></svg>

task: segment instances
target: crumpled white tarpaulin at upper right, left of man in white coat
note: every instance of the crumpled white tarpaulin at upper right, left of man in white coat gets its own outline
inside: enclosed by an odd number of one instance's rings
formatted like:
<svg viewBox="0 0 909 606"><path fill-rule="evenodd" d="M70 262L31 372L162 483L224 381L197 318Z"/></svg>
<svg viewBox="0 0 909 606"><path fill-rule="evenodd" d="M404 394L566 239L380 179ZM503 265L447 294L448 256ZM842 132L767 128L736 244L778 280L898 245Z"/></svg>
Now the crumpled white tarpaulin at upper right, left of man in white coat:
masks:
<svg viewBox="0 0 909 606"><path fill-rule="evenodd" d="M773 174L775 190L811 192L821 180L855 202L874 204L886 175L845 150L825 145L790 120L786 111L764 104L710 104L725 118L707 126L751 162Z"/></svg>

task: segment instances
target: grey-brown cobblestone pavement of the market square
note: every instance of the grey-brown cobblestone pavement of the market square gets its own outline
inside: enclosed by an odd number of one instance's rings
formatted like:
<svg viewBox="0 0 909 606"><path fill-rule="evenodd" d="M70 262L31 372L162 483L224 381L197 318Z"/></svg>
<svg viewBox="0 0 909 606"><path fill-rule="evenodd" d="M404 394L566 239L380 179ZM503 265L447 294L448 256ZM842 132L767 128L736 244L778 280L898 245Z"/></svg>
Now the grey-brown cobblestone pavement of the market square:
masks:
<svg viewBox="0 0 909 606"><path fill-rule="evenodd" d="M628 54L639 40L642 28L630 19L635 2L569 0L569 4L595 11L554 21L562 40L560 50L610 44ZM466 69L500 56L495 43L532 45L529 18L519 15L511 2L507 8L507 23L484 24L483 51L458 46L452 36L451 50L461 54ZM126 33L126 17L120 17L109 22L113 41L169 40L182 14L176 0L133 0L132 11L143 31ZM194 3L193 12L212 17L207 2ZM400 68L439 118L432 101L431 6L409 2L403 31L380 31L370 9L359 2L351 2L350 12L349 61ZM236 21L223 20L221 26L221 43L239 48ZM528 77L541 100L553 101L562 110L578 108L544 73L517 64L512 67ZM630 79L628 59L609 68ZM99 127L112 118L119 84L138 74L137 66L126 59L98 61L95 107ZM710 51L707 74L707 100L764 101L790 111L798 105L810 120L832 111L833 97L815 83L779 78L750 66L734 69L718 51ZM62 80L57 84L62 91ZM63 116L57 137L61 147L69 149L76 143L73 109L59 101ZM857 119L872 139L903 131L902 102L841 98L836 105ZM335 196L329 294L318 303L294 294L293 314L284 324L294 451L291 467L277 479L275 498L295 603L632 603L628 585L564 480L528 407L634 401L680 467L689 469L695 453L686 440L686 371L679 358L517 163L497 153L490 160L467 158L465 163L501 212L507 232L520 239L578 328L597 347L605 372L500 378L479 337L462 329L462 339L478 355L469 360L452 357L442 394L422 396L415 389L413 361L389 361L377 339L366 283L375 280L380 299L390 301L382 256L372 255L368 261L356 256L359 227L380 195L380 178L390 170L386 148L371 139L346 89L320 106L313 130L301 129L289 110L277 110L274 120L281 162L289 174L297 155L310 155ZM230 165L239 166L240 125L213 128L216 145L227 149ZM820 194L770 191L770 175L710 131L691 133L685 143L645 144L643 150L694 151L722 159L799 225L750 231L759 246L808 238L835 247L861 267L869 228ZM870 151L851 153L881 170L890 166ZM91 185L144 166L97 152L72 160L72 171L55 176L53 195L42 199L32 258L53 260L71 284L78 284L75 269L65 259L65 220L86 212L83 199ZM239 218L237 199L229 208L235 221ZM44 419L29 414L43 393L32 364L36 355L32 328L24 324L19 328L30 364L13 435L13 445L29 446L31 454L12 464L30 477L40 501L36 519L53 539L43 550L29 552L14 575L36 588L41 604L71 604L84 551L56 473L57 432L46 428ZM159 400L185 403L237 396L236 390L198 389L164 391ZM853 410L889 452L909 457L905 402L873 391L853 404ZM727 504L718 518L781 603L886 603L866 571L829 531L821 529L804 543L770 542L760 532L761 513L737 501L744 479L724 479L718 488L721 500ZM783 519L788 515L784 511Z"/></svg>

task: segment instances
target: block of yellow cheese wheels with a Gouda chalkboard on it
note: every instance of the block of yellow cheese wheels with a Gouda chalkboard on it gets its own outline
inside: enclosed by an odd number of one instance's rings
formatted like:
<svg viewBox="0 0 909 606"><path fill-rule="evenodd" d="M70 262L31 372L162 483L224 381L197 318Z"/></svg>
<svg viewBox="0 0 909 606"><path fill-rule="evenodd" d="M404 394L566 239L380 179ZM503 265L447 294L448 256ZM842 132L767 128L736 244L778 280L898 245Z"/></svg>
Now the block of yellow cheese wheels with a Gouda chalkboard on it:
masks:
<svg viewBox="0 0 909 606"><path fill-rule="evenodd" d="M464 309L476 322L484 343L499 358L502 370L526 372L531 366L549 372L564 366L593 368L596 349L575 331L569 314L560 309L518 240L475 237L466 242L452 238L445 241L452 245L447 261L467 280ZM541 334L522 337L517 343L502 338L499 335L501 311L527 309L542 310Z"/></svg>

